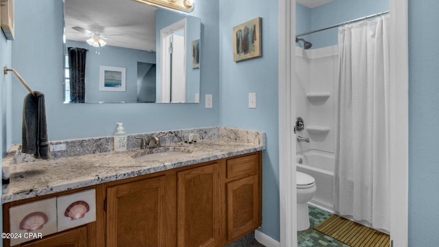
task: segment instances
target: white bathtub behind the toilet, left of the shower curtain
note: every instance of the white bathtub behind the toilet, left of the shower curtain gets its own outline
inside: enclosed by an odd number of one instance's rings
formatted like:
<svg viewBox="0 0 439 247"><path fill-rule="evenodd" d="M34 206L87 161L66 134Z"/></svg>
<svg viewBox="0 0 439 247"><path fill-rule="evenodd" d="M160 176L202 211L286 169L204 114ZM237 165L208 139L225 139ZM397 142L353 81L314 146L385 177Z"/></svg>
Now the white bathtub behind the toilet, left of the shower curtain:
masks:
<svg viewBox="0 0 439 247"><path fill-rule="evenodd" d="M317 191L311 204L333 212L334 154L312 150L296 154L297 161L299 158L302 158L302 164L297 162L297 171L316 179Z"/></svg>

